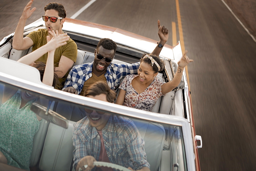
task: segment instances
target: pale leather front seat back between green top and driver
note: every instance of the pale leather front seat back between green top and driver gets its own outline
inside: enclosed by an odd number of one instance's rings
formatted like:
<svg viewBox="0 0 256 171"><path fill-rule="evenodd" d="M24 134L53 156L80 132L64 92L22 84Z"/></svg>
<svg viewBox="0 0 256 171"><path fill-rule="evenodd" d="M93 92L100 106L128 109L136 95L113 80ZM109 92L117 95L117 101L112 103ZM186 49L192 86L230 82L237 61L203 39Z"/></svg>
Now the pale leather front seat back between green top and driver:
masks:
<svg viewBox="0 0 256 171"><path fill-rule="evenodd" d="M40 170L68 171L70 169L74 150L72 141L74 123L69 121L67 129L53 123L49 124L39 163Z"/></svg>

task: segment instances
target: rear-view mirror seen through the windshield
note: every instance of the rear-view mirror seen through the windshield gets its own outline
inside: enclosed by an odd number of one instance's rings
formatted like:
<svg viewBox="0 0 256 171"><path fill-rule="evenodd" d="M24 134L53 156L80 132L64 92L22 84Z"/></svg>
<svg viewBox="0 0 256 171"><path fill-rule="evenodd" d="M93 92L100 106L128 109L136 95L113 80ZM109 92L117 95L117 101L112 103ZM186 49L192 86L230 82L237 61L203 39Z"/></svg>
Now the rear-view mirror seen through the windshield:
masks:
<svg viewBox="0 0 256 171"><path fill-rule="evenodd" d="M45 106L39 105L38 103L32 103L30 110L48 122L52 122L63 128L68 128L68 120L65 117L61 116L55 111L47 109Z"/></svg>

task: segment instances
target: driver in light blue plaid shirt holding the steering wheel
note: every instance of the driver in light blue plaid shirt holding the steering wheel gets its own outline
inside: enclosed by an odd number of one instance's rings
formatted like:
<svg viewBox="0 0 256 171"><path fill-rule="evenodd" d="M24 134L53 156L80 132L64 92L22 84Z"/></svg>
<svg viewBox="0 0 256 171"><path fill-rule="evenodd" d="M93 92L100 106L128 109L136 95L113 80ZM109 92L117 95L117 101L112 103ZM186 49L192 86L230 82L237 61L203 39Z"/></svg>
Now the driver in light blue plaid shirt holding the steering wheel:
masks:
<svg viewBox="0 0 256 171"><path fill-rule="evenodd" d="M90 85L84 95L112 103L116 96L105 82ZM113 170L94 168L94 161L114 163L130 170L150 170L144 140L132 120L90 109L85 111L86 117L73 128L75 170Z"/></svg>

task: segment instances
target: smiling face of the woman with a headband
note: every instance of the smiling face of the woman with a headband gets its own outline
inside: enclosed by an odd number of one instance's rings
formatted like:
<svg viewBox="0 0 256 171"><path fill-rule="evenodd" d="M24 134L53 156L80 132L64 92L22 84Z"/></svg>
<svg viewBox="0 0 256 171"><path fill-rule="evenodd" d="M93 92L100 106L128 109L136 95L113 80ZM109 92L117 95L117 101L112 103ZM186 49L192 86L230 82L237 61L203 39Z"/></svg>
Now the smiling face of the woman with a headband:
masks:
<svg viewBox="0 0 256 171"><path fill-rule="evenodd" d="M150 64L141 62L138 70L138 76L141 84L150 84L154 80L154 77L156 75L157 73L153 71L152 66Z"/></svg>

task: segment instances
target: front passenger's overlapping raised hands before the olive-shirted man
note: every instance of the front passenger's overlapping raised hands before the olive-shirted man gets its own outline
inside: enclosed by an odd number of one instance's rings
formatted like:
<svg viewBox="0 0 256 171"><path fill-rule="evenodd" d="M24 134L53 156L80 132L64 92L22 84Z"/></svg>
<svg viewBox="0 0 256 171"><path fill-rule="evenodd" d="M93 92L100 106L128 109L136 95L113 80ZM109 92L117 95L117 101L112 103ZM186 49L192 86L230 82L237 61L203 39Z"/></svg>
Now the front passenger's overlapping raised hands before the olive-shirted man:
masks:
<svg viewBox="0 0 256 171"><path fill-rule="evenodd" d="M55 51L56 48L63 46L67 44L67 41L69 40L69 36L67 36L67 33L59 34L58 30L55 32L54 30L49 30L48 32L52 38L50 39L50 36L47 36L47 47L48 51Z"/></svg>

